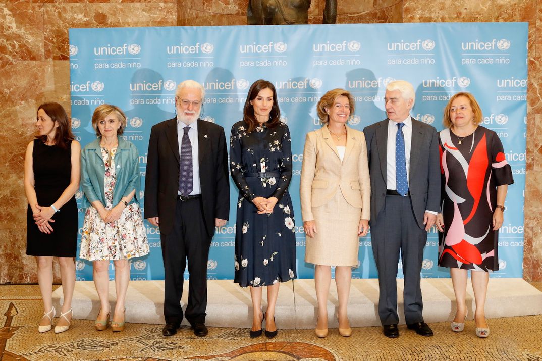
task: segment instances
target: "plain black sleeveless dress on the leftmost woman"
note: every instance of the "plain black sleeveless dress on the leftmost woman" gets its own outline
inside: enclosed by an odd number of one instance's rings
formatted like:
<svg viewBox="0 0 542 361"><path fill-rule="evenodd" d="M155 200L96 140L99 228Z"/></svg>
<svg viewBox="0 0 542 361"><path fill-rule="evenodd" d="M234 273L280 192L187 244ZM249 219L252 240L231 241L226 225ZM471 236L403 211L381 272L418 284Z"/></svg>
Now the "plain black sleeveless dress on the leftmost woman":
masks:
<svg viewBox="0 0 542 361"><path fill-rule="evenodd" d="M32 163L34 168L34 189L40 206L48 207L56 202L70 183L72 171L72 141L67 149L48 146L40 139L34 140ZM75 197L53 215L51 234L41 232L34 218L32 208L27 210L27 255L75 257L77 248L78 215Z"/></svg>

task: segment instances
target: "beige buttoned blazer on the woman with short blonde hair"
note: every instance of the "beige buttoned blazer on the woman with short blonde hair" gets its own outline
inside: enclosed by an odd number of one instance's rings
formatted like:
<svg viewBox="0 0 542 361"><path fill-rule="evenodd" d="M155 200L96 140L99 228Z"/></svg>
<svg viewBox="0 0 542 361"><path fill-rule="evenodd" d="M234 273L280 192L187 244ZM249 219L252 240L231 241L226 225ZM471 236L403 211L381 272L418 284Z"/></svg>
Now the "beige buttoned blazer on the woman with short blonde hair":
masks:
<svg viewBox="0 0 542 361"><path fill-rule="evenodd" d="M312 208L329 202L339 189L346 202L362 209L362 219L369 220L371 183L365 136L346 126L346 151L341 162L324 125L305 139L300 188L303 221L313 221Z"/></svg>

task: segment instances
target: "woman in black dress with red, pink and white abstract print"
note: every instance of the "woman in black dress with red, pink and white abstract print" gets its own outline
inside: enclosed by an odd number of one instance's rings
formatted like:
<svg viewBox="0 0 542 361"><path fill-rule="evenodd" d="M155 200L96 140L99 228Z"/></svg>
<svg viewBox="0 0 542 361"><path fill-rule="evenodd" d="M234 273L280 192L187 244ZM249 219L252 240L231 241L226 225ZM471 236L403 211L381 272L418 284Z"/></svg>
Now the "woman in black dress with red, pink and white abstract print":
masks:
<svg viewBox="0 0 542 361"><path fill-rule="evenodd" d="M437 216L438 266L449 267L456 313L451 329L467 318L465 294L470 269L476 335L488 337L485 302L489 272L499 270L499 228L508 184L514 183L499 136L480 125L482 110L470 93L457 93L444 108L439 133L442 214Z"/></svg>

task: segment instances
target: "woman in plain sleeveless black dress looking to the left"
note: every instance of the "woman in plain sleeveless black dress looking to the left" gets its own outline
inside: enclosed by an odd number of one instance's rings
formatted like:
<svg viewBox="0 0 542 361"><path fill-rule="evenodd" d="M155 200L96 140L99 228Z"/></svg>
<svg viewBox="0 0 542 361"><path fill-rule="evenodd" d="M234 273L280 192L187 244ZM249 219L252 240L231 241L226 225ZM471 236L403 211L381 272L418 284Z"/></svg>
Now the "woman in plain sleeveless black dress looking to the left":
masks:
<svg viewBox="0 0 542 361"><path fill-rule="evenodd" d="M37 109L36 139L24 157L24 191L28 199L27 254L37 258L37 280L43 298L39 332L51 329L53 307L53 257L58 257L64 303L55 333L68 330L72 320L75 286L75 251L78 216L74 194L79 188L81 146L58 103Z"/></svg>

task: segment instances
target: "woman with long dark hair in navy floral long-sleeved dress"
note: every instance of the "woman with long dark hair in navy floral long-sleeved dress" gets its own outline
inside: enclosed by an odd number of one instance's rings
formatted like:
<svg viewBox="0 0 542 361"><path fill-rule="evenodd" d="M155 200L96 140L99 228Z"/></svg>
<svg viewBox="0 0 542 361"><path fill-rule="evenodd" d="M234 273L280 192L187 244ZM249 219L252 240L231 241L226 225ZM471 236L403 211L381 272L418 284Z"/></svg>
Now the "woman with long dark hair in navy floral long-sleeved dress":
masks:
<svg viewBox="0 0 542 361"><path fill-rule="evenodd" d="M295 227L288 185L292 179L290 133L280 121L273 84L256 81L248 91L243 120L231 128L231 177L239 188L235 279L250 286L250 337L262 333L262 288L267 286L266 336L275 337L280 282L296 277Z"/></svg>

